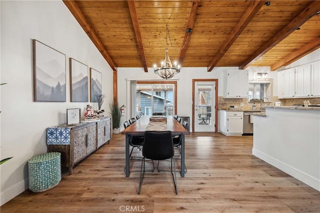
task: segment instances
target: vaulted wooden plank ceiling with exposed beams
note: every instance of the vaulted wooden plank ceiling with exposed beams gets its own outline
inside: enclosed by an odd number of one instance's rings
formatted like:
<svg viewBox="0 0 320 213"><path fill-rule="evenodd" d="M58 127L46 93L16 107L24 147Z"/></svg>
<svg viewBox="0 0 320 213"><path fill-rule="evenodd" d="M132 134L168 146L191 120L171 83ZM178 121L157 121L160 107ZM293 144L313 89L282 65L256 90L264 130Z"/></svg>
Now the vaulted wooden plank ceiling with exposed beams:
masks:
<svg viewBox="0 0 320 213"><path fill-rule="evenodd" d="M166 25L171 61L208 71L216 66L275 70L320 47L318 0L63 2L113 70L159 66Z"/></svg>

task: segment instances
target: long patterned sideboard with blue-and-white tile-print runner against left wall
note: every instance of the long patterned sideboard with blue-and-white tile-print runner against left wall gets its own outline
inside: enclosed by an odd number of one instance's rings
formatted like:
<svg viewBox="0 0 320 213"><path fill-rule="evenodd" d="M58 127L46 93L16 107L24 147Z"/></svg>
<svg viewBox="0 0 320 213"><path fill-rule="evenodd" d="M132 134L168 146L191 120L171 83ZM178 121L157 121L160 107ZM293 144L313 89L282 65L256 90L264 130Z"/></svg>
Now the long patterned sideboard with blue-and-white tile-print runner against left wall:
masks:
<svg viewBox="0 0 320 213"><path fill-rule="evenodd" d="M47 151L61 153L61 166L69 169L111 138L111 117L81 123L62 124L46 129Z"/></svg>

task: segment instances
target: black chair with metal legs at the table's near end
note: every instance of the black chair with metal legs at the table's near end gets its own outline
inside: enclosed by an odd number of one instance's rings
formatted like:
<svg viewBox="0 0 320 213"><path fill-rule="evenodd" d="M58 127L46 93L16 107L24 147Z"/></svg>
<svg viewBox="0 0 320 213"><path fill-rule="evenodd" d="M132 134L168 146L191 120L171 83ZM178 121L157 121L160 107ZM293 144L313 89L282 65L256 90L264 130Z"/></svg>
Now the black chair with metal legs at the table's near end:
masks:
<svg viewBox="0 0 320 213"><path fill-rule="evenodd" d="M144 141L142 147L142 161L141 170L139 178L139 188L138 194L141 191L141 185L143 180L143 175L145 171L145 159L151 160L165 160L171 159L171 174L173 176L173 182L175 186L175 193L178 193L177 183L176 183L176 173L175 173L175 162L174 162L174 148L172 142L172 132L171 131L145 131ZM172 171L173 162L173 171ZM153 161L152 161L153 164Z"/></svg>

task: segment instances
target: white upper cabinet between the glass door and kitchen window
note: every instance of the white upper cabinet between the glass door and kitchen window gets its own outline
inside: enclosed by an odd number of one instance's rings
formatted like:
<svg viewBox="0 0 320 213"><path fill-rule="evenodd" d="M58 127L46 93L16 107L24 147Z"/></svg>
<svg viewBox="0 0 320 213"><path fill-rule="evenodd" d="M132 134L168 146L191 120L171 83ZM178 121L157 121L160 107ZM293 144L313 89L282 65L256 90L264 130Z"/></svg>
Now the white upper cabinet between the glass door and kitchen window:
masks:
<svg viewBox="0 0 320 213"><path fill-rule="evenodd" d="M230 69L224 72L223 96L226 98L247 98L249 89L248 70Z"/></svg>

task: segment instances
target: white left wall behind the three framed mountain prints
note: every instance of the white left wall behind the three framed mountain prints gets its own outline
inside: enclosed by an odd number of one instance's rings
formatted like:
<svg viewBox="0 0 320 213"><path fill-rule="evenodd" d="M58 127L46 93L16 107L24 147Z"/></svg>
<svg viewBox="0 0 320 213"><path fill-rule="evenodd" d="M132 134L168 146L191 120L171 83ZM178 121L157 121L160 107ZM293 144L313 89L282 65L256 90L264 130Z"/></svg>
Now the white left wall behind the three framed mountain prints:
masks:
<svg viewBox="0 0 320 213"><path fill-rule="evenodd" d="M1 204L28 187L27 160L46 149L45 130L66 122L72 57L102 72L103 109L112 100L112 70L62 1L0 1L1 9ZM66 55L66 102L33 102L32 39ZM96 103L92 103L94 109Z"/></svg>

